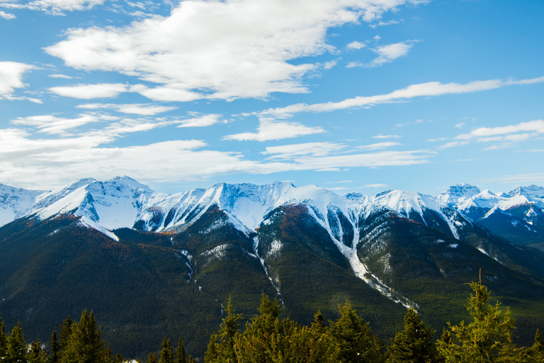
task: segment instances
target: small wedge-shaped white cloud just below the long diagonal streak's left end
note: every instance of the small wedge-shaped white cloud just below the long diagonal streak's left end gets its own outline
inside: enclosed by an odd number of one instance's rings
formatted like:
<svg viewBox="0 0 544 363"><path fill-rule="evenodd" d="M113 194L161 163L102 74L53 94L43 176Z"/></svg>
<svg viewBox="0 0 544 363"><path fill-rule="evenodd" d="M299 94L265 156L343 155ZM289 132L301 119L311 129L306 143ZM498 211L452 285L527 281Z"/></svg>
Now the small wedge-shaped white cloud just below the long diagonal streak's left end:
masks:
<svg viewBox="0 0 544 363"><path fill-rule="evenodd" d="M314 133L324 133L325 130L319 127L311 128L300 123L288 123L283 121L271 121L266 118L259 120L259 127L256 133L237 133L225 136L225 140L239 141L268 141L281 140L286 138L297 138Z"/></svg>

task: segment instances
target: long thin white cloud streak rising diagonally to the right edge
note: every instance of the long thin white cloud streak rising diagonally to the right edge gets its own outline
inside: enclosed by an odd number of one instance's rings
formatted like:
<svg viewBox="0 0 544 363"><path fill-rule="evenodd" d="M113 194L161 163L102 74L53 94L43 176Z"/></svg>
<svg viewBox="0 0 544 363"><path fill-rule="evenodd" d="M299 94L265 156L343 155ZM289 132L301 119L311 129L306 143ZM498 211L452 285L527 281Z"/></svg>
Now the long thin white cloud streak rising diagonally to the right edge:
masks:
<svg viewBox="0 0 544 363"><path fill-rule="evenodd" d="M405 101L421 96L442 96L444 94L466 94L477 91L487 91L489 89L498 89L504 86L514 84L534 84L544 82L544 77L534 79L522 79L520 81L502 79L489 79L487 81L473 81L465 84L441 82L426 82L412 84L403 89L397 89L389 94L379 94L376 96L357 96L353 99L345 99L339 102L325 102L322 104L293 104L283 108L269 108L261 111L262 115L276 115L288 117L293 113L301 112L329 112L344 110L348 108L357 108L363 106L373 106L377 104L389 104L392 102Z"/></svg>

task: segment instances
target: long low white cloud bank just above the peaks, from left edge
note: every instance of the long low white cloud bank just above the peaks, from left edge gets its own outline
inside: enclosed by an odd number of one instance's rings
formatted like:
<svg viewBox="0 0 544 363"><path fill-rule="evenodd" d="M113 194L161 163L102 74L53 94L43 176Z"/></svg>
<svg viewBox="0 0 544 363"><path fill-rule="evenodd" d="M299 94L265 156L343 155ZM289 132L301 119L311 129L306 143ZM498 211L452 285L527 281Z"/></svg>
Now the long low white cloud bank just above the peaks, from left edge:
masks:
<svg viewBox="0 0 544 363"><path fill-rule="evenodd" d="M159 123L160 124L160 123ZM172 140L150 145L104 147L120 133L137 132L157 125L123 120L103 130L62 138L35 138L27 130L0 129L0 180L29 186L40 177L41 187L66 184L92 175L106 179L128 174L141 181L191 181L221 174L270 174L301 170L339 170L346 167L386 167L423 164L427 152L376 152L328 155L341 146L307 147L285 145L289 160L247 160L238 152L206 150L201 140ZM157 162L157 155L168 162ZM279 154L276 154L279 155ZM284 154L286 155L286 154ZM287 158L286 158L287 159Z"/></svg>

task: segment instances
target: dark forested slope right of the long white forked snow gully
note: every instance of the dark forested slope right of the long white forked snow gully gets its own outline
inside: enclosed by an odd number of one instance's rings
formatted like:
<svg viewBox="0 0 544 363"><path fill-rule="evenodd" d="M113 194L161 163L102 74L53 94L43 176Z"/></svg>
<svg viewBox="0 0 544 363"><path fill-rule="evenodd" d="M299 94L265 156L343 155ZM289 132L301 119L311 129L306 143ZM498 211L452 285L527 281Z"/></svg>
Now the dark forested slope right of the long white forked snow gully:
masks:
<svg viewBox="0 0 544 363"><path fill-rule="evenodd" d="M395 213L374 216L373 227L361 235L359 257L385 284L416 301L433 328L466 318L464 284L477 278L480 268L494 296L528 324L517 332L523 340L531 340L531 332L541 326L542 318L535 316L541 314L535 312L544 311L543 279L509 269L460 240ZM531 323L532 318L539 321Z"/></svg>

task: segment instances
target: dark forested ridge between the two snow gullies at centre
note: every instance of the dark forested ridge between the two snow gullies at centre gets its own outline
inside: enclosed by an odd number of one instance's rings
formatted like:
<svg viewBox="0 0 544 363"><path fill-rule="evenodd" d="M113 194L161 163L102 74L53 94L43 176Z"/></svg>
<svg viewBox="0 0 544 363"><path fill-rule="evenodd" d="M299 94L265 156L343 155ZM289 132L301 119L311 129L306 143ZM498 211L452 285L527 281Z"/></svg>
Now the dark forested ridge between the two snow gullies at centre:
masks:
<svg viewBox="0 0 544 363"><path fill-rule="evenodd" d="M278 281L285 313L293 320L311 323L312 312L318 310L326 320L336 318L338 306L347 299L376 333L384 337L395 334L404 306L353 274L327 231L305 206L284 206L268 216L259 228L259 255L273 281Z"/></svg>

